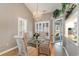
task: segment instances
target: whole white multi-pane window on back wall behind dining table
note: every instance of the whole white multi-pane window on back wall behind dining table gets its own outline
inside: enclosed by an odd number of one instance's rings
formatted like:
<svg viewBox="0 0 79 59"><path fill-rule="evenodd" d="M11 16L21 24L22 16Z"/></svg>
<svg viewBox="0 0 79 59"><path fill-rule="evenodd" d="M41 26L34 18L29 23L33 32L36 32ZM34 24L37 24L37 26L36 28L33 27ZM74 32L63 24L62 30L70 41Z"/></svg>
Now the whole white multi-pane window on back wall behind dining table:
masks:
<svg viewBox="0 0 79 59"><path fill-rule="evenodd" d="M44 38L50 38L50 22L38 21L35 22L35 32L40 33L40 36Z"/></svg>

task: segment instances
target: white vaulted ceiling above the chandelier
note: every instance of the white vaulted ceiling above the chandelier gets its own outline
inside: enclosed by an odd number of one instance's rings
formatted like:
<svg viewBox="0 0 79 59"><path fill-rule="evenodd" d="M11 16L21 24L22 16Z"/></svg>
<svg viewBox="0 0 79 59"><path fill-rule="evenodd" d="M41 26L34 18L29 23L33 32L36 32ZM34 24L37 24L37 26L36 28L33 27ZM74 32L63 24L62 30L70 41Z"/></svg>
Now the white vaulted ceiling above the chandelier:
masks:
<svg viewBox="0 0 79 59"><path fill-rule="evenodd" d="M34 12L37 12L37 10L42 14L50 13L53 12L55 9L61 9L62 7L60 3L25 3L25 5L32 12L32 14Z"/></svg>

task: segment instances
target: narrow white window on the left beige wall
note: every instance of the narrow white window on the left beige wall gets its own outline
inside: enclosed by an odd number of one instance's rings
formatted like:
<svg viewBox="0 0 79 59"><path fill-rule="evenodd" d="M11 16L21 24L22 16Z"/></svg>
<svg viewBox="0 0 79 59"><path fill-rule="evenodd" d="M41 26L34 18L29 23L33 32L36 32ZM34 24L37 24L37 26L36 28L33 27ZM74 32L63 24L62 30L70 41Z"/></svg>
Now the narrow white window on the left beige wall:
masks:
<svg viewBox="0 0 79 59"><path fill-rule="evenodd" d="M27 32L27 20L18 18L18 36L23 36L25 32Z"/></svg>

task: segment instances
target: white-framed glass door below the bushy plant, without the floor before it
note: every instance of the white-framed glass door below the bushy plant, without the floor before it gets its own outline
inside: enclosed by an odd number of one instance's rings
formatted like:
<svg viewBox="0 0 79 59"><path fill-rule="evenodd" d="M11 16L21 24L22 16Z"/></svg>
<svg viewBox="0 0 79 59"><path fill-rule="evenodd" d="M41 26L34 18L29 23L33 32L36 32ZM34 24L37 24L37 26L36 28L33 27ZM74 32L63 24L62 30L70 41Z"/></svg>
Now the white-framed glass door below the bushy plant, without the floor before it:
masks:
<svg viewBox="0 0 79 59"><path fill-rule="evenodd" d="M53 21L53 43L62 43L62 19L56 19Z"/></svg>

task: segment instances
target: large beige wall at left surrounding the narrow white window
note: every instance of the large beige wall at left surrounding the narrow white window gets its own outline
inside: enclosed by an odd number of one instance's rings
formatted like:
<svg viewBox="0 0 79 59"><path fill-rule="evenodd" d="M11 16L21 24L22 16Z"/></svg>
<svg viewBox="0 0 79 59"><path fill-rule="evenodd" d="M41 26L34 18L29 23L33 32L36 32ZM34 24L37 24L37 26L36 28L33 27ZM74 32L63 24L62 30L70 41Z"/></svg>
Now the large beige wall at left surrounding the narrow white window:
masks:
<svg viewBox="0 0 79 59"><path fill-rule="evenodd" d="M0 4L0 51L16 46L18 17L27 19L27 30L32 33L33 18L24 4Z"/></svg>

